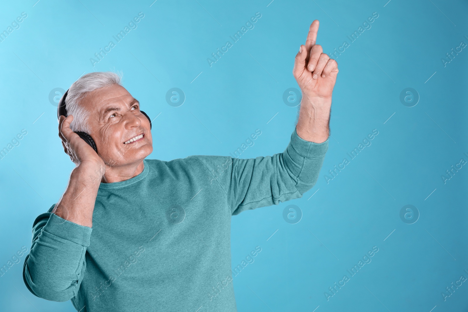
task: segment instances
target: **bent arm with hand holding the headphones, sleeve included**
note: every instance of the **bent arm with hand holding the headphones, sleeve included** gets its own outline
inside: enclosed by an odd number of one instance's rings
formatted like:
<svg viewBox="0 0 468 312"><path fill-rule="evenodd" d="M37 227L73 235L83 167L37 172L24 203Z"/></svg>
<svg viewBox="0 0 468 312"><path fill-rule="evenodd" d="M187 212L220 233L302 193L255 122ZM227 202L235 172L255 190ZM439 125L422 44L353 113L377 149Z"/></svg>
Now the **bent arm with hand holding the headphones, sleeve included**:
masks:
<svg viewBox="0 0 468 312"><path fill-rule="evenodd" d="M32 246L23 265L29 291L52 301L67 301L80 288L95 199L105 172L102 159L100 162L96 152L70 130L72 119L60 117L59 136L77 166L59 203L34 221Z"/></svg>

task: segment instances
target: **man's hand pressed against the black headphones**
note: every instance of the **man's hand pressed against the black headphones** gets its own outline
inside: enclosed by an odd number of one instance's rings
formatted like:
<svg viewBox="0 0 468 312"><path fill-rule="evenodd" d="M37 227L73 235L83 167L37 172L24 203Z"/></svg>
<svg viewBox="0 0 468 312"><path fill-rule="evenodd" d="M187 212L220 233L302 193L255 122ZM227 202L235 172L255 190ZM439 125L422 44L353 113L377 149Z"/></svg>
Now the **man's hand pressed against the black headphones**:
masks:
<svg viewBox="0 0 468 312"><path fill-rule="evenodd" d="M99 172L105 173L104 160L88 145L78 134L70 129L70 123L73 121L73 115L67 117L60 116L59 119L59 137L62 139L62 145L65 153L78 166L80 164L89 165Z"/></svg>

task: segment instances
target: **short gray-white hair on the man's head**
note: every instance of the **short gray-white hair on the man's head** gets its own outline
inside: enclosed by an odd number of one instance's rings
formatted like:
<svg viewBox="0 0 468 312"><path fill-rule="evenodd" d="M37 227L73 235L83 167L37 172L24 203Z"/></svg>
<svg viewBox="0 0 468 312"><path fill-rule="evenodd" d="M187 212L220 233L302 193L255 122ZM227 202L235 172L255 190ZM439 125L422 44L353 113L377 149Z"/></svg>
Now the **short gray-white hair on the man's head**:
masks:
<svg viewBox="0 0 468 312"><path fill-rule="evenodd" d="M89 92L96 89L111 86L114 84L121 85L122 74L112 72L93 72L87 73L73 82L72 86L68 89L66 96L66 113L73 115L73 121L70 123L72 131L84 131L90 133L91 129L88 125L88 118L90 112L80 106L80 100L85 97Z"/></svg>

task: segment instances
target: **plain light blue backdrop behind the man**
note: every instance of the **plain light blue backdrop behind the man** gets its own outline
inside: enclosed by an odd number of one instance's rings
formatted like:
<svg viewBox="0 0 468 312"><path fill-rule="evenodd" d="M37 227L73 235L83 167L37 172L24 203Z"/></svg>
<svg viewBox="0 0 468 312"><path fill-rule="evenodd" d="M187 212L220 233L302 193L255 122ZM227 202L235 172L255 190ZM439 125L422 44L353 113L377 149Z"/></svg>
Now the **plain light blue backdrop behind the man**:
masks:
<svg viewBox="0 0 468 312"><path fill-rule="evenodd" d="M377 12L336 58L333 138L317 184L300 199L233 217L233 267L262 247L234 277L238 310L466 311L467 283L446 301L441 292L468 277L468 168L446 184L441 175L468 160L468 48L446 67L441 58L468 44L467 2L270 1L2 2L0 30L28 17L0 42L0 148L22 129L28 134L0 160L0 265L22 246L29 251L34 219L58 202L74 167L57 134L53 88L67 89L83 73L122 72L142 109L160 114L149 159L228 155L256 129L262 134L241 157L272 155L294 130L299 107L282 96L298 88L292 67L310 23L320 21L317 44L329 53ZM89 58L139 12L138 28L93 67ZM211 53L256 12L255 28L210 67ZM173 87L186 95L180 107L165 100ZM411 108L399 100L406 87L420 95ZM324 175L373 129L372 145L327 184ZM293 225L282 217L290 204L303 213ZM399 216L406 204L420 212L411 225ZM372 262L327 301L324 292L373 246ZM23 261L0 277L1 311L74 311L70 301L29 293Z"/></svg>

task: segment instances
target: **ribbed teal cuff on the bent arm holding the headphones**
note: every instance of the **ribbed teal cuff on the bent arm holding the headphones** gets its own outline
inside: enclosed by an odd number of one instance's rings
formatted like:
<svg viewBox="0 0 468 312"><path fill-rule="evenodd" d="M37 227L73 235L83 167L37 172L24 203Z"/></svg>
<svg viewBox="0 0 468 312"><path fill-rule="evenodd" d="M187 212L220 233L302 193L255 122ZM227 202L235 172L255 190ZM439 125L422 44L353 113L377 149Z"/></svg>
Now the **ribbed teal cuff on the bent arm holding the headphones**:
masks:
<svg viewBox="0 0 468 312"><path fill-rule="evenodd" d="M89 239L93 231L91 227L60 218L55 213L51 213L42 230L85 247L89 246Z"/></svg>

